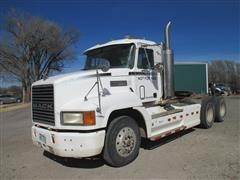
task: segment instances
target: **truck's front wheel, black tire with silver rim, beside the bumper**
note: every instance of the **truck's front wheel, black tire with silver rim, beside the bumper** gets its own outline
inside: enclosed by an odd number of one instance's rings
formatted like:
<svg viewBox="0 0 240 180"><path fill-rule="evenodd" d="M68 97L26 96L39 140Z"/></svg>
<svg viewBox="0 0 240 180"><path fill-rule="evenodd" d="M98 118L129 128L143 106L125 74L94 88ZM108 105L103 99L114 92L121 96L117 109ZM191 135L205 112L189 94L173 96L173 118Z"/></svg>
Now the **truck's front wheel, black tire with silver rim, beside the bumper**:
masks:
<svg viewBox="0 0 240 180"><path fill-rule="evenodd" d="M138 156L140 143L140 132L134 119L128 116L117 117L108 127L103 158L114 167L129 164Z"/></svg>

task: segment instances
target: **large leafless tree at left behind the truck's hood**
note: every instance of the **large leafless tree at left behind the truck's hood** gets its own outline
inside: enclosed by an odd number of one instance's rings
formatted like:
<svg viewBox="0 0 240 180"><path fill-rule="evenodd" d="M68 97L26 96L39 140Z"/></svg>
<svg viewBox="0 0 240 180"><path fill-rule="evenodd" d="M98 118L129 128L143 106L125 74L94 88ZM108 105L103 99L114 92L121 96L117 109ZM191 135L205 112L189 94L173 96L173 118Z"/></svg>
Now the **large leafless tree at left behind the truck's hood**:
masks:
<svg viewBox="0 0 240 180"><path fill-rule="evenodd" d="M1 29L0 69L22 83L24 102L30 101L34 81L61 71L64 61L75 57L76 29L65 30L52 21L15 11L4 17Z"/></svg>

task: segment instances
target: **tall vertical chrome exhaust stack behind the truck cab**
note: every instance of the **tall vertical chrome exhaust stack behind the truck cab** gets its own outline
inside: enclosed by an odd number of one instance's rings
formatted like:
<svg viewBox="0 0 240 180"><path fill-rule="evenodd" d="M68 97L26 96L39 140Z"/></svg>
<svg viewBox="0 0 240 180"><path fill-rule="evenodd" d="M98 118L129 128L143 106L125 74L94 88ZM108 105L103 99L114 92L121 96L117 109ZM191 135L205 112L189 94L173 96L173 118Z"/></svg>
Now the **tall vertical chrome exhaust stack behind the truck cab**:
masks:
<svg viewBox="0 0 240 180"><path fill-rule="evenodd" d="M169 21L165 27L165 42L163 46L163 98L168 99L175 96L175 87L174 87L174 56L173 51L170 48L170 26L171 21Z"/></svg>

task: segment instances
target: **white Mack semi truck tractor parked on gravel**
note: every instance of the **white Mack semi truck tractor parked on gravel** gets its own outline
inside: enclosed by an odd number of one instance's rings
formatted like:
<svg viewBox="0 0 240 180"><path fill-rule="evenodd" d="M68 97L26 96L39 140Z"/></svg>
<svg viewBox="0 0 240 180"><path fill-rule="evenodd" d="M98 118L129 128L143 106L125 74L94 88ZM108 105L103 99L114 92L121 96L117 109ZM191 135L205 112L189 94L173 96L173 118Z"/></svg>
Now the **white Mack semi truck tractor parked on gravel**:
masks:
<svg viewBox="0 0 240 180"><path fill-rule="evenodd" d="M98 44L85 51L83 70L33 83L33 143L61 157L101 154L119 167L138 156L143 138L156 141L223 121L223 97L175 93L170 24L164 42Z"/></svg>

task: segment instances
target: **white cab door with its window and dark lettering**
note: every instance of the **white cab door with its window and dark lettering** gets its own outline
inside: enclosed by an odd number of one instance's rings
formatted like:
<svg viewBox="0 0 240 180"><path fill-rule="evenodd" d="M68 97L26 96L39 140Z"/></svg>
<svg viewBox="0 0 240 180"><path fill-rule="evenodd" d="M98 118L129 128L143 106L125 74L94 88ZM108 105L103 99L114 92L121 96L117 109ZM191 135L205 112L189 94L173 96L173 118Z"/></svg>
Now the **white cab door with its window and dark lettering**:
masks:
<svg viewBox="0 0 240 180"><path fill-rule="evenodd" d="M153 67L154 50L151 48L139 48L135 82L137 95L142 102L155 101L159 98L160 75Z"/></svg>

